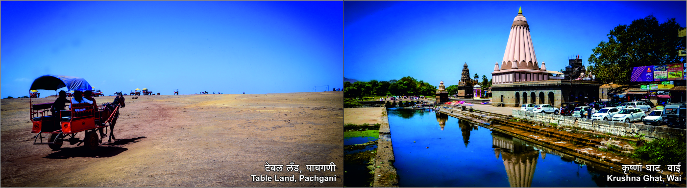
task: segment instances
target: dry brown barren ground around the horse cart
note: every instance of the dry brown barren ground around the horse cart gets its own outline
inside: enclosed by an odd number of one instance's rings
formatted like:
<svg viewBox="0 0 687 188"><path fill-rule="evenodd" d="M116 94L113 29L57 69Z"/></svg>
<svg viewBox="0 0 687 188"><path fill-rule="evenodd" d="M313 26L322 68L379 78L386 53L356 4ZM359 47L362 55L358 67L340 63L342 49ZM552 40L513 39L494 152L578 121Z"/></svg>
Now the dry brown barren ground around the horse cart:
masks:
<svg viewBox="0 0 687 188"><path fill-rule="evenodd" d="M343 92L126 96L118 140L94 152L33 145L28 98L0 102L2 187L343 187ZM302 173L265 172L266 161L293 161ZM335 172L305 166L330 162ZM297 182L252 182L252 174L295 174Z"/></svg>

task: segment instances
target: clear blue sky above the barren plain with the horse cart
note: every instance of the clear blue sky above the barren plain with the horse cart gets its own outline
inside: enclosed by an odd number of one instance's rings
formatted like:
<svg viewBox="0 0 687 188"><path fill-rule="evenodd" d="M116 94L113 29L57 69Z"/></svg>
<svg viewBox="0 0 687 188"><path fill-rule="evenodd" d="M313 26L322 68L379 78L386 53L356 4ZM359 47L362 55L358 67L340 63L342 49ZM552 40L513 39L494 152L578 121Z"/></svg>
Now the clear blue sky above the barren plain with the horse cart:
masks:
<svg viewBox="0 0 687 188"><path fill-rule="evenodd" d="M342 1L1 3L3 98L27 96L41 75L108 95L343 87Z"/></svg>

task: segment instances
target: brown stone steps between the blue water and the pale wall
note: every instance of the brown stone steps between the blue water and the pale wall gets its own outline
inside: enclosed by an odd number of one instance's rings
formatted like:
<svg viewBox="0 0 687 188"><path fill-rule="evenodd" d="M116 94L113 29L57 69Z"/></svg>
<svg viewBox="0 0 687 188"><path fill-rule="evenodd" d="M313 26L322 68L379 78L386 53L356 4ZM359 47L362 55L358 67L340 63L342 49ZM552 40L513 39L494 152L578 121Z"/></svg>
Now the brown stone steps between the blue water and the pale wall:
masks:
<svg viewBox="0 0 687 188"><path fill-rule="evenodd" d="M648 133L647 131L651 128L637 126L636 124L628 124L627 126L624 124L618 124L616 126L616 124L604 125L592 121L589 123L589 125L587 125L585 124L585 120L573 120L570 122L570 118L565 117L563 117L563 120L560 121L561 124L558 124L559 122L552 122L552 119L555 119L556 117L554 116L556 115L544 117L548 114L541 114L541 117L537 118L537 116L540 116L539 114L523 116L520 115L519 112L516 112L516 110L514 110L513 113L514 115L517 113L517 116L520 118L504 114L479 111L471 109L471 107L467 107L467 109L464 110L462 107L453 107L450 105L441 105L439 111L442 113L447 113L449 116L467 119L474 123L484 124L484 126L488 129L506 133L513 137L524 139L528 142L552 148L554 150L559 150L560 152L565 152L567 155L572 155L584 161L593 161L594 163L605 167L609 172L612 171L618 173L622 173L621 165L642 164L641 161L611 152L616 151L629 153L634 149L634 143L640 140L637 137L629 137L627 135L632 135L633 133L651 135L651 137L648 137L647 139L671 136L679 137L679 133L674 133L679 132L677 130L668 129L669 131L664 131L661 133ZM588 127L591 129L585 129L583 127ZM626 127L629 127L630 129L624 129ZM653 130L657 129L654 128ZM615 133L613 131L615 131ZM624 137L622 136L623 133L626 134ZM682 135L684 138L684 130ZM679 176L684 175L684 171L680 173L668 171L658 173L647 172L645 170L642 172L632 173L638 176L644 176L646 174L651 174L654 176L665 176L668 174ZM669 184L677 187L685 187L686 185L684 180L682 182L669 182Z"/></svg>

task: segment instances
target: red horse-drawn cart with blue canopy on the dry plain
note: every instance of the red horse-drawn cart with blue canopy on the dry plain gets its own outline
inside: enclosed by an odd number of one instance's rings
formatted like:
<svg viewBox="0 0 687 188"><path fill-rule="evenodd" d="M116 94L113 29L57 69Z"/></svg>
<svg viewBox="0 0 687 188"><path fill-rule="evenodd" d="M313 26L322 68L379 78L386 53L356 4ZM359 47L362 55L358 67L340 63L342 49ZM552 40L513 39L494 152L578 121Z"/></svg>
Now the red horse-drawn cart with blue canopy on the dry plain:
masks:
<svg viewBox="0 0 687 188"><path fill-rule="evenodd" d="M85 79L62 75L38 77L32 83L30 90L57 91L64 87L74 91L91 90L91 85ZM31 100L29 103L30 118L33 124L31 133L38 133L34 139L34 144L47 144L49 148L58 150L62 147L63 142L67 141L71 145L85 144L90 150L95 150L102 139L98 139L96 130L104 135L102 131L107 126L110 126L110 138L114 137L112 130L116 122L117 111L120 108L119 105L106 103L98 107L90 103L76 103L71 104L69 110L65 110L64 107L63 109L51 110L54 103L34 104ZM85 133L84 139L77 138L80 132Z"/></svg>

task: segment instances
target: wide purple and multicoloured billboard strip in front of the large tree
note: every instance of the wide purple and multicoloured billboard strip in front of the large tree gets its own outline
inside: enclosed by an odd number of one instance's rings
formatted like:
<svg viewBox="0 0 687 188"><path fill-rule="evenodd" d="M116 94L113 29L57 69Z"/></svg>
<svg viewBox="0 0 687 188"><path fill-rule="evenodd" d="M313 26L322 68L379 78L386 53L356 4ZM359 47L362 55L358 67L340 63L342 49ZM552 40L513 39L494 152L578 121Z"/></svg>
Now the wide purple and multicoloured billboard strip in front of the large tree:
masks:
<svg viewBox="0 0 687 188"><path fill-rule="evenodd" d="M632 68L630 81L670 81L683 80L683 64L660 66L635 66Z"/></svg>

